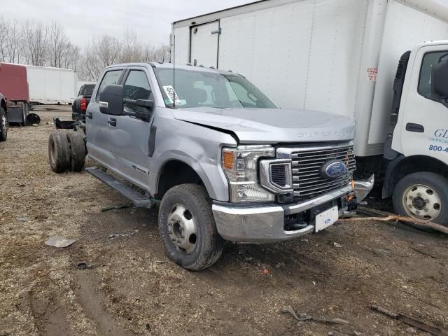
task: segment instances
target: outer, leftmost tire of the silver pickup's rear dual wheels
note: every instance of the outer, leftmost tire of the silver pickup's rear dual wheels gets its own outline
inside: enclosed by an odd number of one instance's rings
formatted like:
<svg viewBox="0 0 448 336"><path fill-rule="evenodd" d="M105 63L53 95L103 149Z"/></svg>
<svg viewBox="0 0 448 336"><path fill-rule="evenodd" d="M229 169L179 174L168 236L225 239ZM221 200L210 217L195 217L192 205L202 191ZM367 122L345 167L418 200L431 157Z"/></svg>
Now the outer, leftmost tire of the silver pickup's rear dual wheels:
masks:
<svg viewBox="0 0 448 336"><path fill-rule="evenodd" d="M63 173L70 167L70 146L65 133L51 132L48 137L48 160L51 170Z"/></svg>

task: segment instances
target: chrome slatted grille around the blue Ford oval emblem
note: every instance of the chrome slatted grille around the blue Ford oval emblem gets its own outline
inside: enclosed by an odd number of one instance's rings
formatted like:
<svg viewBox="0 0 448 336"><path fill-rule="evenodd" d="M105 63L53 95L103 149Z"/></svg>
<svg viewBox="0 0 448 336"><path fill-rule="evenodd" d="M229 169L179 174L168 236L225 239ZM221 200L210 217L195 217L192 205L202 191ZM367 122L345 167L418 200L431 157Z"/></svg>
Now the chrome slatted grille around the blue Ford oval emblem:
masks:
<svg viewBox="0 0 448 336"><path fill-rule="evenodd" d="M293 149L294 196L311 197L346 186L356 170L353 146ZM347 167L346 174L337 179L321 176L321 167L329 160L341 160Z"/></svg>

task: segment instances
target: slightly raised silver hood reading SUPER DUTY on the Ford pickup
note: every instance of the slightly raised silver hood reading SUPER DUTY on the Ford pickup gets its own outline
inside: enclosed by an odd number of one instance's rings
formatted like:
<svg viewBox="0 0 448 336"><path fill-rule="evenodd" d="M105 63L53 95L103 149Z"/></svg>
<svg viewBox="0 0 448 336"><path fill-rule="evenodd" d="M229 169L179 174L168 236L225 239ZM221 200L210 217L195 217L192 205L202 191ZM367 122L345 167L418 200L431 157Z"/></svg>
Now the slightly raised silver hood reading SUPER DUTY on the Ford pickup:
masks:
<svg viewBox="0 0 448 336"><path fill-rule="evenodd" d="M295 109L175 109L174 118L234 133L241 144L349 141L355 134L351 118Z"/></svg>

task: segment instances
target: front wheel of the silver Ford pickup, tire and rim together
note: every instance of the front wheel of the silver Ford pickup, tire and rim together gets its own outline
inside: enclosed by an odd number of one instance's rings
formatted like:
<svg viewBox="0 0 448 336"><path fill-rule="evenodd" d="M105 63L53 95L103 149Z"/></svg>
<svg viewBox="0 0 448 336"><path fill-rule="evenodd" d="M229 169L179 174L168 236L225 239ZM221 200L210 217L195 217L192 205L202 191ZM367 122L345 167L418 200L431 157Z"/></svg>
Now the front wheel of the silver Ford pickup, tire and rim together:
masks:
<svg viewBox="0 0 448 336"><path fill-rule="evenodd" d="M168 258L190 271L210 267L223 253L224 241L202 186L181 184L167 191L160 203L159 230Z"/></svg>

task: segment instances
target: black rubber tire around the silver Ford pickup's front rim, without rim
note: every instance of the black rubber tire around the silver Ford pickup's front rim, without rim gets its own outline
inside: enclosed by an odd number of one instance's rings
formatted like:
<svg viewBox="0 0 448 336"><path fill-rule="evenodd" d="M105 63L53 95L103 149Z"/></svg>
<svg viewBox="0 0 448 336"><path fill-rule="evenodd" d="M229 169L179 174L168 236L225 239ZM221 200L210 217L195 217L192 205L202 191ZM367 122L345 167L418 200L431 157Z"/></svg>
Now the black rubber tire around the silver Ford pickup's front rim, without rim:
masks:
<svg viewBox="0 0 448 336"><path fill-rule="evenodd" d="M196 223L195 246L190 253L179 248L170 237L174 226L169 223L169 216L173 207L179 205L188 209L188 216ZM216 230L211 200L202 186L181 184L167 191L160 203L159 230L168 258L190 271L200 271L214 265L223 253L224 241Z"/></svg>

